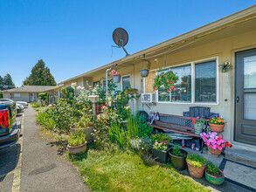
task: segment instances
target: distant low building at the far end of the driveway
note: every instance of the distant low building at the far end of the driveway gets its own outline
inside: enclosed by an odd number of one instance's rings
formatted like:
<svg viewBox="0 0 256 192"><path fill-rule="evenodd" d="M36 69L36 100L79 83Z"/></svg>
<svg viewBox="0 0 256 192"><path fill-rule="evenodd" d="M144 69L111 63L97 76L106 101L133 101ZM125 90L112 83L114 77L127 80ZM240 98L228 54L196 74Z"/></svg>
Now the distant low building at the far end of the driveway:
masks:
<svg viewBox="0 0 256 192"><path fill-rule="evenodd" d="M49 92L55 93L54 90L58 89L57 86L21 86L16 89L9 89L2 91L3 99L12 99L14 101L37 101L39 93ZM59 97L59 93L58 93Z"/></svg>

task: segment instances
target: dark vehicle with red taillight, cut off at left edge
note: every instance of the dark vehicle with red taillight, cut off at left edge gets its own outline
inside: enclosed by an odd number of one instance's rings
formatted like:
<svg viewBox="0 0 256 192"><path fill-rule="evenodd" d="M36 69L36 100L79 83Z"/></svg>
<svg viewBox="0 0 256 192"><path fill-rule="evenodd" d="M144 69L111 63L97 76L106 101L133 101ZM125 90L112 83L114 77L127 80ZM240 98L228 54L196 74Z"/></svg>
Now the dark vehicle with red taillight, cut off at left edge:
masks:
<svg viewBox="0 0 256 192"><path fill-rule="evenodd" d="M16 103L11 99L0 99L0 149L17 143L21 126L16 121Z"/></svg>

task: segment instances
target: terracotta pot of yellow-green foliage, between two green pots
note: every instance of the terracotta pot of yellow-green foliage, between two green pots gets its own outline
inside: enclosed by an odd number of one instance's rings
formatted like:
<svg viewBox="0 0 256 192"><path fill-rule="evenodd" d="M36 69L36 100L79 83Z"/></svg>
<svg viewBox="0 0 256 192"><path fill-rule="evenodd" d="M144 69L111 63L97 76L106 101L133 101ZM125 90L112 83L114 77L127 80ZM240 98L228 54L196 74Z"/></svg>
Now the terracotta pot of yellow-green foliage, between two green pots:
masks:
<svg viewBox="0 0 256 192"><path fill-rule="evenodd" d="M204 157L201 157L197 154L188 154L186 161L190 175L195 178L202 178L207 162Z"/></svg>

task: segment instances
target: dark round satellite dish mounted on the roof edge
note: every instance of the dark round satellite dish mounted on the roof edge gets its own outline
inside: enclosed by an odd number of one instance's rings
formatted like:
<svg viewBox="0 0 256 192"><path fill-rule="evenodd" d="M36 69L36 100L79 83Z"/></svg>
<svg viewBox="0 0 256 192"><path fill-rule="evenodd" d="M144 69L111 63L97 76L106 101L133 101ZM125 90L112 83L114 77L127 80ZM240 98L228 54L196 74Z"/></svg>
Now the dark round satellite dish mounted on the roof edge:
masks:
<svg viewBox="0 0 256 192"><path fill-rule="evenodd" d="M124 46L128 43L128 32L122 28L116 28L112 34L112 37L114 43L117 45L113 47L122 48L123 51L126 52L126 56L129 56L128 51L126 51L124 48Z"/></svg>

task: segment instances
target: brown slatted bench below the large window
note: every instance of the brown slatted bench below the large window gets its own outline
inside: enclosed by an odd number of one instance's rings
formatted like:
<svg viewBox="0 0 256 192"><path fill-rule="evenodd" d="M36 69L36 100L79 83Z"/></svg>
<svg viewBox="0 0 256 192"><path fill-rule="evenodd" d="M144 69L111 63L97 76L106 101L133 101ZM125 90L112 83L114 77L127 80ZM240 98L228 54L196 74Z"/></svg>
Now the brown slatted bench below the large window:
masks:
<svg viewBox="0 0 256 192"><path fill-rule="evenodd" d="M159 113L159 120L154 120L153 124L149 124L149 126L175 132L177 134L186 134L200 138L200 135L195 134L194 124L192 123L191 118L193 117ZM206 119L204 119L204 121L207 123Z"/></svg>

